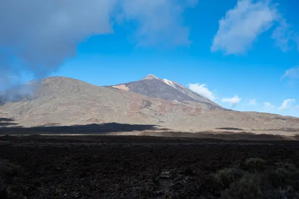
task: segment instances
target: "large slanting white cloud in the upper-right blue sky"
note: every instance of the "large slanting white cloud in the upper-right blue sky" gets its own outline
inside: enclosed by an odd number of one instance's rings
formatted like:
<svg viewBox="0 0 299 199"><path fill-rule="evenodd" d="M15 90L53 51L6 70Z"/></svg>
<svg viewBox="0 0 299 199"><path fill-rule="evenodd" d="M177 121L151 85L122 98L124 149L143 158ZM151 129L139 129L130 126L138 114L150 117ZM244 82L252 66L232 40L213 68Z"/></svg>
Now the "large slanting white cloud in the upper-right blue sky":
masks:
<svg viewBox="0 0 299 199"><path fill-rule="evenodd" d="M219 20L211 50L223 50L226 54L243 53L279 17L275 4L269 0L238 0L237 5Z"/></svg>

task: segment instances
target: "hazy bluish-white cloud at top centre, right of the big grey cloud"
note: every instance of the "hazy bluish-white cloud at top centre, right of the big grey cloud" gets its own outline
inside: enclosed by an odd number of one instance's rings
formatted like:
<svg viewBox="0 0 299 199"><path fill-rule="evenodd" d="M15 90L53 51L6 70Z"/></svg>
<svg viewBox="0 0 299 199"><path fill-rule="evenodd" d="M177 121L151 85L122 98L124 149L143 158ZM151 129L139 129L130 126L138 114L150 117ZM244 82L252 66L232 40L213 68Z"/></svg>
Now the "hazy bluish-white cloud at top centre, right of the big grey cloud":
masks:
<svg viewBox="0 0 299 199"><path fill-rule="evenodd" d="M123 16L137 22L138 45L189 45L189 29L182 13L197 0L123 0Z"/></svg>

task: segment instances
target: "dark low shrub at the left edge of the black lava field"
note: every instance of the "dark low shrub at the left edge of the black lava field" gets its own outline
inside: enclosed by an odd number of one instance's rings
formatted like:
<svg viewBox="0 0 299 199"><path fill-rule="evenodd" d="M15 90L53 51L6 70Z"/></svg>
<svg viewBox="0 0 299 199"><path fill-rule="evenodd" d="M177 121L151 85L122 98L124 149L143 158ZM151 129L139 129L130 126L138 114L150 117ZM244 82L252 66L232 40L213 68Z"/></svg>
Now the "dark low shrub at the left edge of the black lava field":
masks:
<svg viewBox="0 0 299 199"><path fill-rule="evenodd" d="M20 166L11 164L8 160L0 159L0 177L10 180L22 174Z"/></svg>

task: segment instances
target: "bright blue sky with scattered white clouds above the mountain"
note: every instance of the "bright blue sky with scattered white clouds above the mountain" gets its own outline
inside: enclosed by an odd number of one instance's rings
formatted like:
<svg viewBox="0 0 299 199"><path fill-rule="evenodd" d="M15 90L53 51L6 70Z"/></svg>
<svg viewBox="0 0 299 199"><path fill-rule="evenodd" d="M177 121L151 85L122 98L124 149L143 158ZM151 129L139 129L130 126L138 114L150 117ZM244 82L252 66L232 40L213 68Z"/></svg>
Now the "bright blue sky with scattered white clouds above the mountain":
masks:
<svg viewBox="0 0 299 199"><path fill-rule="evenodd" d="M100 86L154 74L226 108L299 117L298 0L112 1L99 9L96 0L90 1L90 7L84 4L90 15L83 19L73 12L75 6L73 10L53 7L65 15L55 17L59 20L55 28L49 25L51 36L26 38L28 43L48 40L33 45L35 55L42 58L30 59L32 64L24 69L36 75L44 71L36 69L39 61L54 60L57 66L46 66L44 75ZM96 14L105 6L110 12ZM44 11L38 14L48 18ZM30 25L44 28L41 24ZM48 47L54 41L62 43L55 53ZM66 49L70 44L73 48ZM27 54L14 55L29 60Z"/></svg>

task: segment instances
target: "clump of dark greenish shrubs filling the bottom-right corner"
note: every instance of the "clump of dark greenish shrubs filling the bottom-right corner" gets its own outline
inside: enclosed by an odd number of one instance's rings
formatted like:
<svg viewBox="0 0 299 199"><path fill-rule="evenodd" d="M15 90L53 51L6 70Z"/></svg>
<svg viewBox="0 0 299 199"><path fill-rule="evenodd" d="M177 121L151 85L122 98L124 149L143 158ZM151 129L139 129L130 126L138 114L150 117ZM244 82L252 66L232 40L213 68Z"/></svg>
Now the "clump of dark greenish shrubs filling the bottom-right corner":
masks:
<svg viewBox="0 0 299 199"><path fill-rule="evenodd" d="M299 197L299 169L292 164L267 164L250 158L240 167L213 175L222 199L294 199Z"/></svg>

